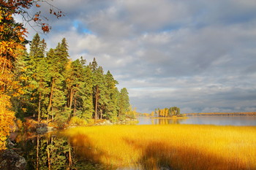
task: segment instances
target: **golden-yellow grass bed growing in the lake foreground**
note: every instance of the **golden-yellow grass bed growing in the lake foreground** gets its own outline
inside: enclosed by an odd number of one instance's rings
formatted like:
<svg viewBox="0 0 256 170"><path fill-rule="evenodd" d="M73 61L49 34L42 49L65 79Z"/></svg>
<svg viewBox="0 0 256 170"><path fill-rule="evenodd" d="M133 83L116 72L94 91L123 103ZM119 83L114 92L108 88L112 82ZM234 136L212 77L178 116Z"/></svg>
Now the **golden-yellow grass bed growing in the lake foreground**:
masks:
<svg viewBox="0 0 256 170"><path fill-rule="evenodd" d="M256 127L112 125L64 131L78 154L109 169L256 169Z"/></svg>

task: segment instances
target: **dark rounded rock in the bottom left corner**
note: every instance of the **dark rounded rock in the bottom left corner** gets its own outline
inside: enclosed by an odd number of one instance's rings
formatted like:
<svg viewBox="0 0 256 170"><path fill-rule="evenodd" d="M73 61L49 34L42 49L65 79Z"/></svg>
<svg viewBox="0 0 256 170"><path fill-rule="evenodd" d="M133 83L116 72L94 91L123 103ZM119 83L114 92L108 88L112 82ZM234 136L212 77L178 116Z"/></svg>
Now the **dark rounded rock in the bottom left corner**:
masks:
<svg viewBox="0 0 256 170"><path fill-rule="evenodd" d="M13 150L0 151L1 170L23 170L26 169L26 160Z"/></svg>

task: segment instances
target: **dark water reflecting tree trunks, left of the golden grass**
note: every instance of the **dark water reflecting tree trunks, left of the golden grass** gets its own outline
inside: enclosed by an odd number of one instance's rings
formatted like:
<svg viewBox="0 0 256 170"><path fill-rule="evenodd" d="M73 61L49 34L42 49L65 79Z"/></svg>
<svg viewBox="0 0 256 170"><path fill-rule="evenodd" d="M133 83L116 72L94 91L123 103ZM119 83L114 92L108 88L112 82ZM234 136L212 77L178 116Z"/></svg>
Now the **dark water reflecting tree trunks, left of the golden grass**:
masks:
<svg viewBox="0 0 256 170"><path fill-rule="evenodd" d="M15 150L26 159L26 169L101 169L100 165L80 158L63 136L18 136L16 142Z"/></svg>

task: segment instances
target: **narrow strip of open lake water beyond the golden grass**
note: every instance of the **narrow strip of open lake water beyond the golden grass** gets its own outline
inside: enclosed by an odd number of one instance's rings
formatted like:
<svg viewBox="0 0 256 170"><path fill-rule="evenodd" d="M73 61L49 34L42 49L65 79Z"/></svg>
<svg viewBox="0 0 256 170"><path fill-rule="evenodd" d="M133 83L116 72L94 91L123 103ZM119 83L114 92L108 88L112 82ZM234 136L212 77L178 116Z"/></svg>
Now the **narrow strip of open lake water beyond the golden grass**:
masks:
<svg viewBox="0 0 256 170"><path fill-rule="evenodd" d="M138 125L256 125L256 116L189 116L187 119L151 119L150 117L138 117L138 120Z"/></svg>

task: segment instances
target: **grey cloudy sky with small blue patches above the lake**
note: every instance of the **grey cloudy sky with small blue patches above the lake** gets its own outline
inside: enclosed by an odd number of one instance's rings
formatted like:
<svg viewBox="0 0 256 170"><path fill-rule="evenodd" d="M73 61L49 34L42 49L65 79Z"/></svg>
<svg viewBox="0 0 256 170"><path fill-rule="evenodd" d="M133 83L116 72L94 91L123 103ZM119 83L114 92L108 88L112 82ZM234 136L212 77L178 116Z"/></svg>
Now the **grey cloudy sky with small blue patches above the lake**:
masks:
<svg viewBox="0 0 256 170"><path fill-rule="evenodd" d="M95 57L138 112L256 112L255 0L55 0L42 35ZM34 36L31 30L29 37Z"/></svg>

